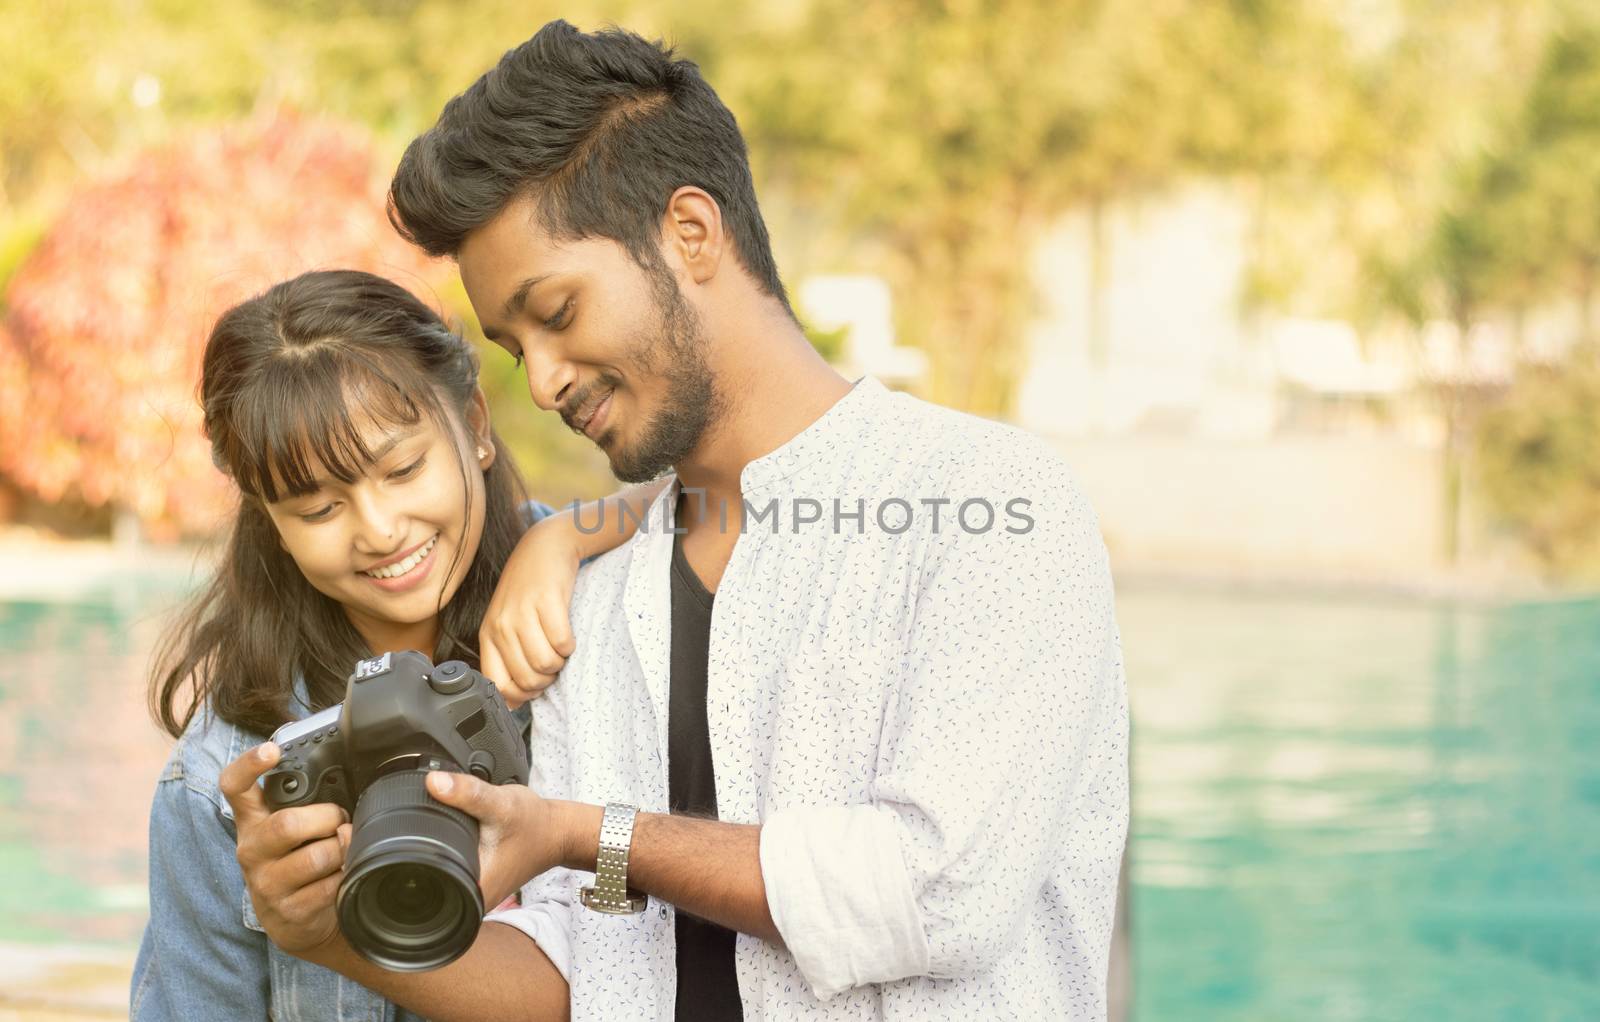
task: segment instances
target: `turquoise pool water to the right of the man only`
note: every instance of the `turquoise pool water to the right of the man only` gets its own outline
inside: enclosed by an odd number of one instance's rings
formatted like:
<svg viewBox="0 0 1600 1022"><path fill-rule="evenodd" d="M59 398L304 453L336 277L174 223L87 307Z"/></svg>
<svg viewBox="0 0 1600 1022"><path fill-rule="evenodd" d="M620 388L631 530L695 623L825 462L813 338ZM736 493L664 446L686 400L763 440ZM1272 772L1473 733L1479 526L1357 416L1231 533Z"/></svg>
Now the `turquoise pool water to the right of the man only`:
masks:
<svg viewBox="0 0 1600 1022"><path fill-rule="evenodd" d="M1120 619L1136 1017L1600 1019L1600 603Z"/></svg>

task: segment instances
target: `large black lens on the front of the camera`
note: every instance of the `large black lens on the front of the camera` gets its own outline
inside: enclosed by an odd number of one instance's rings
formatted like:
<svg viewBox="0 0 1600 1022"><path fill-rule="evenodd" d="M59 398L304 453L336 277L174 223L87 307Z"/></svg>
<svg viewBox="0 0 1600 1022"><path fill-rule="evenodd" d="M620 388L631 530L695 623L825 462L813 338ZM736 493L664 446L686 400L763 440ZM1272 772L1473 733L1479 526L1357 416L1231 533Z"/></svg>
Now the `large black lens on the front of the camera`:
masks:
<svg viewBox="0 0 1600 1022"><path fill-rule="evenodd" d="M379 777L352 820L339 928L357 952L397 972L459 958L483 920L478 824L422 787L422 771Z"/></svg>

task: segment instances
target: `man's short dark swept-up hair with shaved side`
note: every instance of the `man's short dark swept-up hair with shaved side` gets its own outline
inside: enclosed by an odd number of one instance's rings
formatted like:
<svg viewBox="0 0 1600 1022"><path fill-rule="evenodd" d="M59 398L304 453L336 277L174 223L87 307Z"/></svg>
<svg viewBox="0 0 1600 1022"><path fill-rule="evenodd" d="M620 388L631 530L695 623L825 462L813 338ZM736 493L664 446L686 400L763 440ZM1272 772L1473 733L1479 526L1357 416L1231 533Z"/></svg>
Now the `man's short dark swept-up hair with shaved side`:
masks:
<svg viewBox="0 0 1600 1022"><path fill-rule="evenodd" d="M661 218L683 186L717 200L739 261L789 309L744 138L699 69L632 32L552 21L411 142L389 219L429 254L456 254L470 230L531 194L552 235L611 238L659 269Z"/></svg>

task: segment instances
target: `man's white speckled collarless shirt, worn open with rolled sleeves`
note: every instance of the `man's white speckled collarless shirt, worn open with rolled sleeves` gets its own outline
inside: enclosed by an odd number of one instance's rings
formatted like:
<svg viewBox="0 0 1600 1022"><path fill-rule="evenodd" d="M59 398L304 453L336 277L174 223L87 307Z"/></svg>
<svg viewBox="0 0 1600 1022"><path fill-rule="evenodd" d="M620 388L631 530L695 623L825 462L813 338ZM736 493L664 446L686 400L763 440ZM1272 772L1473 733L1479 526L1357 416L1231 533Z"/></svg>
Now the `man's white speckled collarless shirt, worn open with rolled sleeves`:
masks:
<svg viewBox="0 0 1600 1022"><path fill-rule="evenodd" d="M867 377L739 481L706 715L718 817L762 824L786 945L739 934L744 1017L1102 1019L1128 705L1062 461ZM578 581L578 649L533 709L549 798L667 811L677 489ZM672 907L600 915L587 883L552 870L491 918L566 976L574 1020L669 1022Z"/></svg>

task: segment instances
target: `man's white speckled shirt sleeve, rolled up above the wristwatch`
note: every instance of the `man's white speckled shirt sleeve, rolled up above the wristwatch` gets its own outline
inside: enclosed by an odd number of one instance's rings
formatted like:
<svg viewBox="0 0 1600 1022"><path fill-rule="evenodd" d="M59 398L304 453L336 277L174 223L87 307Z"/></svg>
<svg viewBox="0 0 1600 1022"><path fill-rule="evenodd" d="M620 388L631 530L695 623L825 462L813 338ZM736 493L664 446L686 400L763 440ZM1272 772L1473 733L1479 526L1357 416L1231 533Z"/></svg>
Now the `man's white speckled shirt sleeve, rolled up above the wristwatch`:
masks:
<svg viewBox="0 0 1600 1022"><path fill-rule="evenodd" d="M992 969L1051 870L1109 948L1128 819L1110 569L1064 470L1030 497L1027 533L930 553L870 803L763 820L768 907L819 998Z"/></svg>

